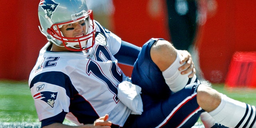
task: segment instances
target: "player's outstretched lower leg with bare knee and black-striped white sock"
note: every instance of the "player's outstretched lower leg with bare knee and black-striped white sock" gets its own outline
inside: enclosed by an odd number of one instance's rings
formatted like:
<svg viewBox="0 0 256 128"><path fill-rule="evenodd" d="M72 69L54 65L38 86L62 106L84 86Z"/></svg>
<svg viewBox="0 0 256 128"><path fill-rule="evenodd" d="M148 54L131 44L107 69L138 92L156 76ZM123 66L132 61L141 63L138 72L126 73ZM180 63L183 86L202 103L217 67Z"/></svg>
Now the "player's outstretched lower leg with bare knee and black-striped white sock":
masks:
<svg viewBox="0 0 256 128"><path fill-rule="evenodd" d="M239 102L205 86L198 86L197 102L216 122L232 128L256 128L255 106Z"/></svg>

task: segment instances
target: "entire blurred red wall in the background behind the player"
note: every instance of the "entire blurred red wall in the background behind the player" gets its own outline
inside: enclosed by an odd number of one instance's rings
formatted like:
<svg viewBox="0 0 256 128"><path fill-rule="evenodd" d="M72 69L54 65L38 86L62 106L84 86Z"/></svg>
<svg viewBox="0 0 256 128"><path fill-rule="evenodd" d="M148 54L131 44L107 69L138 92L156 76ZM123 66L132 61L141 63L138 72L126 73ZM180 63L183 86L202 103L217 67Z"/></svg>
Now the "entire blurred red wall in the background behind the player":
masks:
<svg viewBox="0 0 256 128"><path fill-rule="evenodd" d="M0 80L28 80L46 38L38 26L40 0L2 1L0 4ZM112 32L142 46L150 38L170 40L163 0L113 0ZM256 1L216 0L216 14L208 18L197 42L206 80L224 83L235 51L256 51ZM28 6L29 4L29 6ZM121 66L130 76L132 67Z"/></svg>

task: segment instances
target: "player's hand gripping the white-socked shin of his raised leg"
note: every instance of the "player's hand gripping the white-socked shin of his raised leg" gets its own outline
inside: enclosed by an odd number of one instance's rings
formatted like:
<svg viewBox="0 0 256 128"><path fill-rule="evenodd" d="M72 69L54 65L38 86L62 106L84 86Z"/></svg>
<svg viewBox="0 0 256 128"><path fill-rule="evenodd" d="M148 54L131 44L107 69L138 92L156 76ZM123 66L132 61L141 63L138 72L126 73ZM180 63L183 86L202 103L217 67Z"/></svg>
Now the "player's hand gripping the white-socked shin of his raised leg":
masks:
<svg viewBox="0 0 256 128"><path fill-rule="evenodd" d="M196 74L196 68L192 61L191 54L186 50L179 50L179 52L182 55L180 64L186 62L186 64L180 66L179 71L182 71L181 74L188 74L192 71L192 73L188 75L189 78L192 78Z"/></svg>

